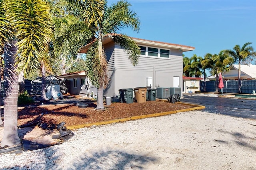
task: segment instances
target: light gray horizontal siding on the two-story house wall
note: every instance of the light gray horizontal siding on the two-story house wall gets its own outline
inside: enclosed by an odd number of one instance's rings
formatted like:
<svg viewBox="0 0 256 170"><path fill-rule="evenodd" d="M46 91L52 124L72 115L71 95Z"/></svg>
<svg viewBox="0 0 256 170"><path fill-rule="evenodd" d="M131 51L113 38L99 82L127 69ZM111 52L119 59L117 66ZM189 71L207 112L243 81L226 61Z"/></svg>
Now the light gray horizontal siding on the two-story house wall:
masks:
<svg viewBox="0 0 256 170"><path fill-rule="evenodd" d="M182 51L170 49L170 59L141 56L138 65L134 67L126 51L118 45L115 48L108 45L110 49L105 47L105 50L108 49L106 53L112 78L104 95L112 97L118 95L118 89L146 87L146 77L153 77L151 88L156 88L158 85L173 87L173 77L178 76L182 87Z"/></svg>

